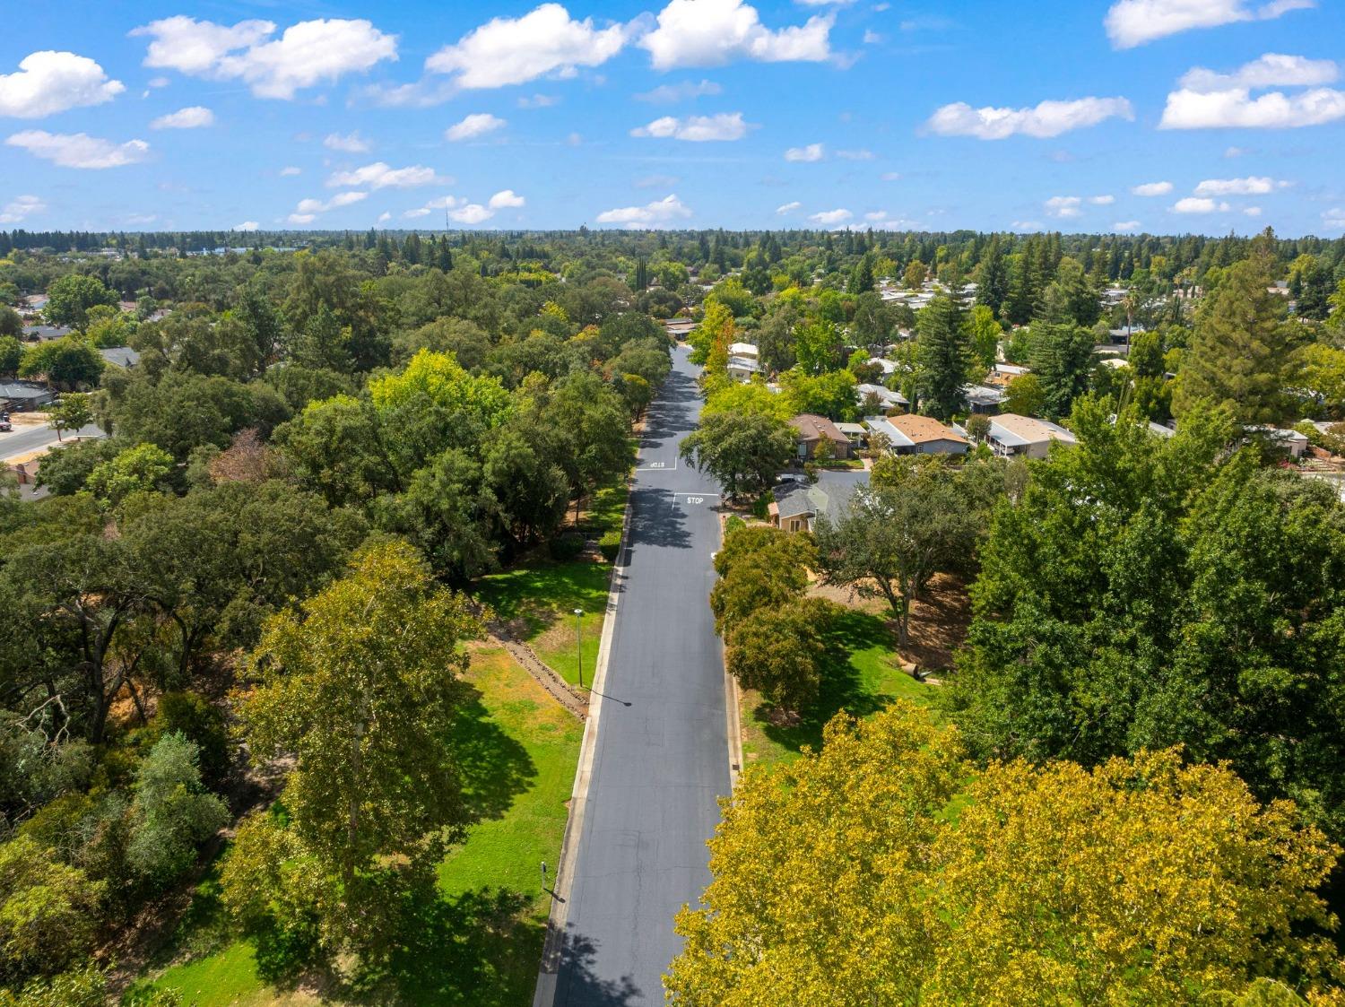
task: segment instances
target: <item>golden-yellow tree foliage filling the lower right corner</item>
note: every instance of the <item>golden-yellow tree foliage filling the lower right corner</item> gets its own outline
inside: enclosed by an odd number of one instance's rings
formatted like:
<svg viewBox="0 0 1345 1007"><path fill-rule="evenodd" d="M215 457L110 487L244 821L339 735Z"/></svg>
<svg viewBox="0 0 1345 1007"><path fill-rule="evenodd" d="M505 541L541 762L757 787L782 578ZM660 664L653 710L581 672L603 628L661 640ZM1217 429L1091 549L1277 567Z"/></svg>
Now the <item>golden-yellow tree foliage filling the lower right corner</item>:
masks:
<svg viewBox="0 0 1345 1007"><path fill-rule="evenodd" d="M1337 850L1223 766L993 764L915 707L749 770L664 977L697 1007L1176 1004L1336 985ZM960 793L959 793L960 791ZM958 800L954 800L958 797ZM1305 926L1307 924L1307 926Z"/></svg>

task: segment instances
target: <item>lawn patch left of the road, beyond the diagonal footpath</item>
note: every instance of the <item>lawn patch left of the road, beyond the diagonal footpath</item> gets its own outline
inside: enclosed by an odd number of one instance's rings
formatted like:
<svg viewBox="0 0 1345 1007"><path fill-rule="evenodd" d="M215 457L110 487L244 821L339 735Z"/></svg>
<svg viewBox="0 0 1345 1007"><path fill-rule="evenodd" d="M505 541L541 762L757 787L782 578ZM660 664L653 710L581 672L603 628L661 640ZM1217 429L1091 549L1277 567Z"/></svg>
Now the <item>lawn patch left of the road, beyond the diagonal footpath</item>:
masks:
<svg viewBox="0 0 1345 1007"><path fill-rule="evenodd" d="M625 507L624 496L621 507ZM616 520L621 520L620 511ZM578 620L578 644L584 651L584 684L592 686L611 575L612 567L607 563L543 559L483 577L475 593L572 686L580 682L574 609L584 609Z"/></svg>

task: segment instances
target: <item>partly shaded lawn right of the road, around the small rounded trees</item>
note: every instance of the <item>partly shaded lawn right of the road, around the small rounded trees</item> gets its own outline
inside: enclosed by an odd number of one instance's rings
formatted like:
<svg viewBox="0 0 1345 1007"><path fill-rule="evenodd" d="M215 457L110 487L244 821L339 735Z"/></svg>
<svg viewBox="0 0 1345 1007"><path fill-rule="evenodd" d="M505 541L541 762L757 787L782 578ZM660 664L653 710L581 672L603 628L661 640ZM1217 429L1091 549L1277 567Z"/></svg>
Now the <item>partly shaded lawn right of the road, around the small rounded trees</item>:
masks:
<svg viewBox="0 0 1345 1007"><path fill-rule="evenodd" d="M771 707L752 690L742 692L742 760L780 762L796 758L807 745L822 748L822 729L845 710L868 717L893 699L927 704L931 690L893 663L894 640L884 620L865 612L842 610L826 635L829 667L822 672L822 695L816 707L798 723L772 723Z"/></svg>

